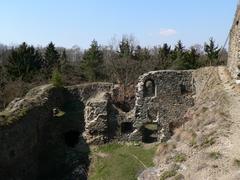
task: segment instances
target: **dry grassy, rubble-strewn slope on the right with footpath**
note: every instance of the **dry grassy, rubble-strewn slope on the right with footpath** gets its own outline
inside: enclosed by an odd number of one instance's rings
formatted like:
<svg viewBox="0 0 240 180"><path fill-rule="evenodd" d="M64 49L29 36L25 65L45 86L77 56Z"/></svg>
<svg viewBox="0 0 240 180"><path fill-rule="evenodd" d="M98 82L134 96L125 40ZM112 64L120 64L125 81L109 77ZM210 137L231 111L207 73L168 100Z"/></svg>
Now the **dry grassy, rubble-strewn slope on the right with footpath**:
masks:
<svg viewBox="0 0 240 180"><path fill-rule="evenodd" d="M240 179L240 87L225 67L195 72L196 102L186 123L160 144L139 180Z"/></svg>

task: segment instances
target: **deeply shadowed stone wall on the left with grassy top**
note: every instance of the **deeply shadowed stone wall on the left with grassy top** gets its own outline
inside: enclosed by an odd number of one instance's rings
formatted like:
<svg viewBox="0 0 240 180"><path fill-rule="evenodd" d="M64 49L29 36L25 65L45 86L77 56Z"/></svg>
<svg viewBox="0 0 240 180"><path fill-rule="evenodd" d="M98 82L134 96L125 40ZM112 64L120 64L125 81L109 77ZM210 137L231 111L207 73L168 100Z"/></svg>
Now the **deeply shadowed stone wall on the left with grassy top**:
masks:
<svg viewBox="0 0 240 180"><path fill-rule="evenodd" d="M69 179L75 172L72 179L84 179L89 163L82 136L85 105L111 88L110 83L61 89L45 85L10 103L0 112L0 177L53 180L67 175Z"/></svg>

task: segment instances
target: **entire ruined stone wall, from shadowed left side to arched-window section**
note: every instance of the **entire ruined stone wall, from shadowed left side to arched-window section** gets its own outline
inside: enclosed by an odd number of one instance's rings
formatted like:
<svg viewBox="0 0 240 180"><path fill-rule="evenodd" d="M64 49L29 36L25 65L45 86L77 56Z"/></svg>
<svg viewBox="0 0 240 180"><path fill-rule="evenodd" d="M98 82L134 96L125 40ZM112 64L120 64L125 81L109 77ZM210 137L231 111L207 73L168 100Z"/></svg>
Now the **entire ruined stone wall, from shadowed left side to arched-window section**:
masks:
<svg viewBox="0 0 240 180"><path fill-rule="evenodd" d="M195 88L192 71L146 73L130 112L115 106L116 92L111 83L45 85L14 100L0 112L0 177L84 179L88 145L168 139L193 105Z"/></svg>

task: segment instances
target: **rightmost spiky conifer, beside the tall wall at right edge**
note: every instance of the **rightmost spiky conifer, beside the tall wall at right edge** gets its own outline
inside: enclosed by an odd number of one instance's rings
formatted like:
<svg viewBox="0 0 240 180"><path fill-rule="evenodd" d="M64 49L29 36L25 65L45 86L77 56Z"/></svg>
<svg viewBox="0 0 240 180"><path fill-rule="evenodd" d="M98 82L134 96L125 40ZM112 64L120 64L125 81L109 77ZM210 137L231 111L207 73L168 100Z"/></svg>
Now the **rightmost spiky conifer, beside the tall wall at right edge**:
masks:
<svg viewBox="0 0 240 180"><path fill-rule="evenodd" d="M204 44L204 51L208 57L209 66L217 65L218 63L217 59L218 59L220 50L221 48L215 45L215 41L213 38L209 39L209 43Z"/></svg>

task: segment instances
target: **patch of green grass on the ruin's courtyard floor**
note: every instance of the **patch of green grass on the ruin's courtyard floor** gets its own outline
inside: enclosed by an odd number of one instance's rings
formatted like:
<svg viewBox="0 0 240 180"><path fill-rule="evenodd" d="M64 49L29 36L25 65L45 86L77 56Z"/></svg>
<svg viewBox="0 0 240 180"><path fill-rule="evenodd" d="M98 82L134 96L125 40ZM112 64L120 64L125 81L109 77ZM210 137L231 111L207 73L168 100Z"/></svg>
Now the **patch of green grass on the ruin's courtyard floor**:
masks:
<svg viewBox="0 0 240 180"><path fill-rule="evenodd" d="M156 147L107 144L92 151L90 180L136 180L147 167L154 166ZM98 154L104 154L103 156Z"/></svg>

